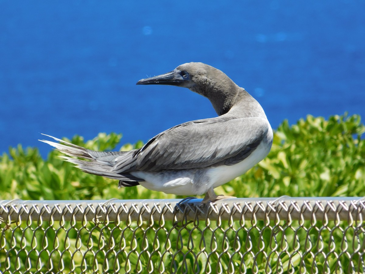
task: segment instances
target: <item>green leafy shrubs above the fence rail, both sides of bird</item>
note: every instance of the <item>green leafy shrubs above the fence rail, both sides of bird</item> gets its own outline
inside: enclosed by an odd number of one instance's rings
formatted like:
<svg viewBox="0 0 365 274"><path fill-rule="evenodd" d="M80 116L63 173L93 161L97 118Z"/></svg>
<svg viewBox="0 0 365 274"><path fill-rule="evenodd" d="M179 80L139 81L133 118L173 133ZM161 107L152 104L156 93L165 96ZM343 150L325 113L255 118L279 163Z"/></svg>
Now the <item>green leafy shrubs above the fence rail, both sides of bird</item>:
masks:
<svg viewBox="0 0 365 274"><path fill-rule="evenodd" d="M361 138L364 132L358 115L335 115L328 120L308 115L292 126L284 121L274 133L268 157L246 174L216 189L216 193L236 197L365 196L365 141ZM104 151L115 149L121 137L121 134L100 133L87 142L80 136L65 140ZM123 145L120 150L142 145L139 141ZM3 153L1 199L176 198L142 186L118 190L116 180L86 174L58 156L61 153L51 151L43 160L37 148L24 150L21 145L10 148L8 154Z"/></svg>

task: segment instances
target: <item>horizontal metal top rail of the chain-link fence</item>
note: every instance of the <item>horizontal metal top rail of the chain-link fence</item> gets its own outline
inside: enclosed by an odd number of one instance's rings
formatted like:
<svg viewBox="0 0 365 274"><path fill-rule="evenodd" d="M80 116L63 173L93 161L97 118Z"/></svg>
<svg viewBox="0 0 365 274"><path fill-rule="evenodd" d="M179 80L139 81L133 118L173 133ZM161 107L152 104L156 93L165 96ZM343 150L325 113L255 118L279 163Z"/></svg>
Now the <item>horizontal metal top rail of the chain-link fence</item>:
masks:
<svg viewBox="0 0 365 274"><path fill-rule="evenodd" d="M365 197L229 198L201 204L202 199L85 201L0 200L0 223L14 221L179 221L365 220Z"/></svg>

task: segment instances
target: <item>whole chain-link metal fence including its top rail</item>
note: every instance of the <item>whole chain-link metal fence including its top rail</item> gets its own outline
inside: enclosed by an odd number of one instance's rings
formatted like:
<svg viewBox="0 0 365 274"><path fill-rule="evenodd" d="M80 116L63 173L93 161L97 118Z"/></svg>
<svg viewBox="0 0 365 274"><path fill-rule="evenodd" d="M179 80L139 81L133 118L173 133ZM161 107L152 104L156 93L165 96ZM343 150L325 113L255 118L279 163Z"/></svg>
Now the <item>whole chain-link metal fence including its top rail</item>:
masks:
<svg viewBox="0 0 365 274"><path fill-rule="evenodd" d="M365 199L0 201L1 273L364 273Z"/></svg>

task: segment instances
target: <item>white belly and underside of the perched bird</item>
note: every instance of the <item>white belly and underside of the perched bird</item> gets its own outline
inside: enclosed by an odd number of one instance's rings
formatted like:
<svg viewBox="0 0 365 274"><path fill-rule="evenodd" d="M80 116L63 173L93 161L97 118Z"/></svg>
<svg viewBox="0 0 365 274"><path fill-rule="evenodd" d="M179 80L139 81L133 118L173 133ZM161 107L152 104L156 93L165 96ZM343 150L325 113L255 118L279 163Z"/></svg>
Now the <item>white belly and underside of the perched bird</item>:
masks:
<svg viewBox="0 0 365 274"><path fill-rule="evenodd" d="M255 151L245 160L234 165L222 165L220 167L204 168L203 182L194 182L197 170L176 170L164 172L131 172L133 176L142 178L145 182L139 182L150 190L162 191L175 195L202 195L211 187L221 186L244 174L255 164L268 155L272 143L272 130L268 133L269 140L261 142ZM271 137L271 138L270 138Z"/></svg>

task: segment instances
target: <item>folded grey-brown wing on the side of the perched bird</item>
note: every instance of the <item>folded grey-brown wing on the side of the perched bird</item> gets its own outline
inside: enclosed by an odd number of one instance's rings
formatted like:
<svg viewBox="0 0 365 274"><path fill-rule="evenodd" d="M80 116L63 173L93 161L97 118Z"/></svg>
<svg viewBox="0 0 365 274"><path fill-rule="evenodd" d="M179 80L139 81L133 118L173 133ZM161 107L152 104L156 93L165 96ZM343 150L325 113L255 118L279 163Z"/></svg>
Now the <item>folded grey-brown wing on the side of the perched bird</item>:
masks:
<svg viewBox="0 0 365 274"><path fill-rule="evenodd" d="M245 159L268 132L266 119L222 116L186 122L152 138L132 157L117 157L111 171L160 171L230 165Z"/></svg>

